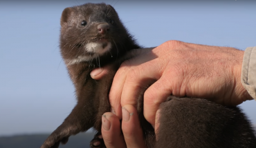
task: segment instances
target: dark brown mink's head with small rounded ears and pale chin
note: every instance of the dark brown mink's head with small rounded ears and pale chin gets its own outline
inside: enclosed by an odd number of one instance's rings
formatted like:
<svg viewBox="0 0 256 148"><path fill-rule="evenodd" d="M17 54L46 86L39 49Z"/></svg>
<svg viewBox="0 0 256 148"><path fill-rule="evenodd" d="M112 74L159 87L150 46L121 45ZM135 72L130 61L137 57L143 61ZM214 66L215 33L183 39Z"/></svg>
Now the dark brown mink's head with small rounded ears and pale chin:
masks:
<svg viewBox="0 0 256 148"><path fill-rule="evenodd" d="M116 10L105 3L66 8L61 18L60 48L68 65L113 59L134 43Z"/></svg>

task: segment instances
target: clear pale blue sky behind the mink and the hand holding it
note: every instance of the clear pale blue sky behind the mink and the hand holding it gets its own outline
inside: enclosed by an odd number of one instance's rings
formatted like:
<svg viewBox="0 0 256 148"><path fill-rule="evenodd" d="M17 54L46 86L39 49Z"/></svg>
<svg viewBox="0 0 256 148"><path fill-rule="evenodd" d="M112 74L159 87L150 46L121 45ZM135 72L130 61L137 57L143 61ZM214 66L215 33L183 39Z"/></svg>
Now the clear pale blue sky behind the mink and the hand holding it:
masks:
<svg viewBox="0 0 256 148"><path fill-rule="evenodd" d="M0 1L0 136L49 133L73 109L60 56L62 10L90 1ZM91 1L98 3L102 1ZM256 46L256 1L104 1L144 47L168 40ZM256 101L239 105L256 124Z"/></svg>

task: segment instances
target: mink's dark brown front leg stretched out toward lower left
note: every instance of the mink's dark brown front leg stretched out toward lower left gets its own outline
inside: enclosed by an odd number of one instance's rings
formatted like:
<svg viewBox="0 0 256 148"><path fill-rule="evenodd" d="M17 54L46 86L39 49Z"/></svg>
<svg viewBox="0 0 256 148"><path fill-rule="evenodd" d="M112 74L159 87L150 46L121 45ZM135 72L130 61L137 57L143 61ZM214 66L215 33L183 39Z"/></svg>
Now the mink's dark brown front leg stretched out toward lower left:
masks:
<svg viewBox="0 0 256 148"><path fill-rule="evenodd" d="M60 142L66 144L68 137L78 134L80 131L86 131L93 127L98 105L95 102L95 93L90 93L95 87L93 79L84 78L84 86L77 89L77 105L75 105L71 114L64 120L62 125L46 139L41 148L56 148ZM96 106L95 106L96 105Z"/></svg>

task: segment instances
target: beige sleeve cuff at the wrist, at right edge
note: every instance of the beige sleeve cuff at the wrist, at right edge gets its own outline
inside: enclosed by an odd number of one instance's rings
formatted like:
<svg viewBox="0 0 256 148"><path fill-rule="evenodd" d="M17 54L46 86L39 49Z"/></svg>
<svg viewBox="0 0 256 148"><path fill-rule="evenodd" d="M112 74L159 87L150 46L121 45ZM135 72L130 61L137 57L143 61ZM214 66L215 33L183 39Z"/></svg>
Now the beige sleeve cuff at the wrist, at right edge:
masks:
<svg viewBox="0 0 256 148"><path fill-rule="evenodd" d="M256 47L247 47L244 52L241 83L256 101Z"/></svg>

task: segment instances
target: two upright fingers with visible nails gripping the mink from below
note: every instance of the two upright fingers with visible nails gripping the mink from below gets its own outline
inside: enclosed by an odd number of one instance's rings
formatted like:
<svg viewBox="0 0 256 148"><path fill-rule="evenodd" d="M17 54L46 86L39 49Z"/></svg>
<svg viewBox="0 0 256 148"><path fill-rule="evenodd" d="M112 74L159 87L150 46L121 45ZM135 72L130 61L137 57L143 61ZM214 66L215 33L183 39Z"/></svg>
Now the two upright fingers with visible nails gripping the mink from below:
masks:
<svg viewBox="0 0 256 148"><path fill-rule="evenodd" d="M118 116L107 112L102 116L102 138L107 148L145 148L143 131L140 127L136 108L122 107L122 131Z"/></svg>

